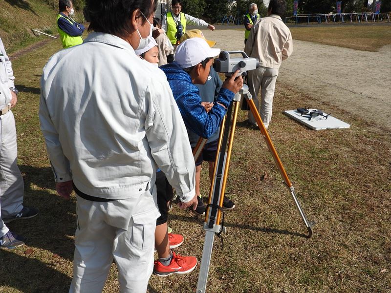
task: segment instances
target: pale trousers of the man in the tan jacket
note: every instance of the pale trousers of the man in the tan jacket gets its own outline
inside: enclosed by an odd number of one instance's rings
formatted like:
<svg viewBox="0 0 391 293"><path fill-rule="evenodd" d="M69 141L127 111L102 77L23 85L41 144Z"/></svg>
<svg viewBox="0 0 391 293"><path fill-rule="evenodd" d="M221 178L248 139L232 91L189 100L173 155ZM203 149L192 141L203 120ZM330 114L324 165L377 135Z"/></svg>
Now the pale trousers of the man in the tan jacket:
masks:
<svg viewBox="0 0 391 293"><path fill-rule="evenodd" d="M253 96L254 104L261 115L261 119L266 129L269 127L270 121L272 120L272 109L273 109L273 97L274 89L276 87L276 80L278 76L278 69L260 67L255 70L248 72L248 87L250 94ZM261 109L260 102L258 99L258 93L261 88ZM255 124L251 111L248 112L248 120L250 123Z"/></svg>

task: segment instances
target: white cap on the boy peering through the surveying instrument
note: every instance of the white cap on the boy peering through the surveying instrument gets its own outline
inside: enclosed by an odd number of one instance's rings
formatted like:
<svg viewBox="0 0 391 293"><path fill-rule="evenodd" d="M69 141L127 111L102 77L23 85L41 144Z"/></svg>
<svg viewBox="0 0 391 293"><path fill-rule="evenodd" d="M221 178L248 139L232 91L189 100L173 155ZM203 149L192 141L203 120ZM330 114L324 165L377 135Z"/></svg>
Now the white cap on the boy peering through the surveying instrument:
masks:
<svg viewBox="0 0 391 293"><path fill-rule="evenodd" d="M201 63L206 58L213 58L220 54L220 49L211 48L201 38L187 39L181 42L175 51L174 61L182 68L190 68Z"/></svg>

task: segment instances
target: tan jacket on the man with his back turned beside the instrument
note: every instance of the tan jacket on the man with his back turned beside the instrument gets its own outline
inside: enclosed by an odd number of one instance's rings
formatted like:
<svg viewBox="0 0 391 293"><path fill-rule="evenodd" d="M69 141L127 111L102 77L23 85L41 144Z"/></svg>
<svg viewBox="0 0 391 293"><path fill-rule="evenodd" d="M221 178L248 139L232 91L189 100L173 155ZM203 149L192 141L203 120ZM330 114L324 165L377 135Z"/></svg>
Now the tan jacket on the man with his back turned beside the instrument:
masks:
<svg viewBox="0 0 391 293"><path fill-rule="evenodd" d="M280 68L293 51L292 35L280 16L271 14L251 28L244 52L258 58L261 66Z"/></svg>

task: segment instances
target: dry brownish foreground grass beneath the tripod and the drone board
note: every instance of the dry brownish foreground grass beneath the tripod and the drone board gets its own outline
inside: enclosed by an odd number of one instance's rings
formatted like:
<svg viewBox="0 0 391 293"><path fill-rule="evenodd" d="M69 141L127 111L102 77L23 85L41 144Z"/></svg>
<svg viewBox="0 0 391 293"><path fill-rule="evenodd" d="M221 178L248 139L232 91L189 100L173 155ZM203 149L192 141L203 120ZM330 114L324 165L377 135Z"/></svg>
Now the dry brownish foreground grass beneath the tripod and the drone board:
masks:
<svg viewBox="0 0 391 293"><path fill-rule="evenodd" d="M55 194L38 120L40 76L58 40L13 63L21 94L13 110L25 204L38 217L10 223L29 238L0 251L0 292L67 292L72 276L75 198ZM224 249L215 241L208 292L390 292L391 135L333 105L277 84L269 132L310 220L306 229L258 131L239 123L227 184L237 208L225 213ZM351 124L313 131L282 114L314 105ZM202 193L208 194L206 167ZM265 176L266 175L266 176ZM169 226L185 242L175 251L200 259L202 219L174 208ZM199 268L182 276L152 276L149 292L195 292ZM113 264L104 292L118 292Z"/></svg>

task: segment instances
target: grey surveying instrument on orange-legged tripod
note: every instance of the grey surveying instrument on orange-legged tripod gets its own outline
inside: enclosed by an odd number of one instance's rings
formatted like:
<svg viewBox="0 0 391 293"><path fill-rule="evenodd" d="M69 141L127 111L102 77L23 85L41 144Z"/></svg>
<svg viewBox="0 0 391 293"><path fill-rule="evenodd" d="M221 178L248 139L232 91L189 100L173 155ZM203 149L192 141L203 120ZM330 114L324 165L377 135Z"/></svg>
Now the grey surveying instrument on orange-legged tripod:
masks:
<svg viewBox="0 0 391 293"><path fill-rule="evenodd" d="M241 58L232 58L231 54L241 54ZM249 58L242 51L222 51L218 59L215 59L214 68L217 72L225 72L226 76L230 76L232 73L236 72L238 69L239 74L246 75L247 71L253 70L259 67L259 61L255 58ZM251 113L254 115L256 122L261 130L261 134L265 139L266 145L269 148L269 151L276 163L280 174L283 179L283 183L288 188L290 194L293 197L293 200L296 204L297 209L300 212L300 215L304 221L305 226L308 230L307 238L312 235L312 227L315 225L315 222L309 222L304 214L304 211L299 203L299 200L296 197L295 189L290 182L288 175L284 167L282 166L281 160L277 154L276 149L270 139L270 136L263 125L261 116L258 113L257 107L254 104L252 96L248 91L247 84L243 84L242 88L235 95L233 102L229 105L227 113L221 122L220 135L218 138L217 145L217 157L215 161L215 168L213 172L213 178L211 182L211 189L209 192L209 200L207 209L205 212L205 241L204 248L202 251L201 266L198 275L197 289L196 293L205 293L206 292L206 283L208 279L209 265L212 256L213 241L215 239L215 234L220 236L221 233L225 233L224 227L224 214L222 209L225 186L228 178L228 169L231 159L231 151L234 142L235 127L238 118L239 105L240 101L242 103L244 100L249 105ZM195 160L198 158L199 154L202 151L203 146L206 144L205 138L200 138L197 145L194 148L193 155ZM220 225L220 220L222 218L222 225Z"/></svg>

